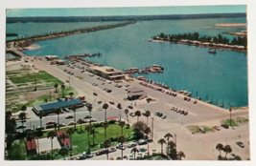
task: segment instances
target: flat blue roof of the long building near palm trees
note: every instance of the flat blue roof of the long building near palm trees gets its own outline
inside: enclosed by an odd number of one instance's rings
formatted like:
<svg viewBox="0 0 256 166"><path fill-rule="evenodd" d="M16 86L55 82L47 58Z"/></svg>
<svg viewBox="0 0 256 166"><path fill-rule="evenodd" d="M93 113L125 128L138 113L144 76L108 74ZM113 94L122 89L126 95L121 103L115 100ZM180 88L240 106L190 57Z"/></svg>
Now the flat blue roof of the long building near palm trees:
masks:
<svg viewBox="0 0 256 166"><path fill-rule="evenodd" d="M41 105L33 105L33 107L36 109L36 111L47 111L47 110L53 110L60 107L69 107L72 105L78 105L82 104L81 100L78 98L70 99L67 101L57 101L52 103L46 103Z"/></svg>

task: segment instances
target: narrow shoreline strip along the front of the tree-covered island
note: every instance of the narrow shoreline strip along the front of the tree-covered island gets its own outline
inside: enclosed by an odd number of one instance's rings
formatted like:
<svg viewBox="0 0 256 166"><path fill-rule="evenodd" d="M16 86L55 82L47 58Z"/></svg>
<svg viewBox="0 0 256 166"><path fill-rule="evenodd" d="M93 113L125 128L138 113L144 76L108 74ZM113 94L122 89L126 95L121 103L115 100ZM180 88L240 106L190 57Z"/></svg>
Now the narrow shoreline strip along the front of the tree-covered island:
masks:
<svg viewBox="0 0 256 166"><path fill-rule="evenodd" d="M148 40L149 42L158 42L158 43L170 43L170 44L180 44L180 45L188 45L188 46L196 46L196 47L200 47L200 48L208 48L208 49L212 49L212 48L216 48L216 50L219 50L219 51L228 51L228 52L244 52L244 53L247 53L247 50L242 50L242 49L234 49L234 48L224 48L224 47L221 47L221 46L205 46L205 45L202 45L202 44L188 44L188 43L181 43L181 42L170 42L170 41L163 41L163 40Z"/></svg>

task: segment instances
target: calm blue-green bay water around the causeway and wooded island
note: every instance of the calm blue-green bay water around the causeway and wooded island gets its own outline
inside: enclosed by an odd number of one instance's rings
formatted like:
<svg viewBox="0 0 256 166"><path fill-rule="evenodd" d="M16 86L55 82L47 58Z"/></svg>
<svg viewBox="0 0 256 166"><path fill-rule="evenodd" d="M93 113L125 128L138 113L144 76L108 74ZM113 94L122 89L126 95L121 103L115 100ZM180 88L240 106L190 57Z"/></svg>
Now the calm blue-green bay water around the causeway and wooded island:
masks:
<svg viewBox="0 0 256 166"><path fill-rule="evenodd" d="M40 49L25 53L57 54L63 57L84 52L102 52L102 57L89 59L122 71L132 67L144 68L157 64L165 68L164 73L145 74L147 78L178 90L193 91L193 96L197 96L198 92L202 100L205 100L208 95L208 100L213 97L214 104L217 104L217 100L218 105L224 101L225 108L228 107L229 102L233 107L247 106L247 55L245 53L219 51L214 55L208 53L206 48L147 41L160 32L198 31L201 35L218 35L228 30L201 30L201 28L214 26L217 23L245 22L245 18L146 21L119 29L82 33L38 42L36 44L41 46ZM58 27L59 23L55 24L54 27ZM72 24L70 26L78 26L77 23ZM42 27L40 31L45 30L44 27L47 27L47 30L51 29L51 24L40 26ZM232 35L224 36L233 38Z"/></svg>

